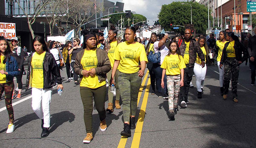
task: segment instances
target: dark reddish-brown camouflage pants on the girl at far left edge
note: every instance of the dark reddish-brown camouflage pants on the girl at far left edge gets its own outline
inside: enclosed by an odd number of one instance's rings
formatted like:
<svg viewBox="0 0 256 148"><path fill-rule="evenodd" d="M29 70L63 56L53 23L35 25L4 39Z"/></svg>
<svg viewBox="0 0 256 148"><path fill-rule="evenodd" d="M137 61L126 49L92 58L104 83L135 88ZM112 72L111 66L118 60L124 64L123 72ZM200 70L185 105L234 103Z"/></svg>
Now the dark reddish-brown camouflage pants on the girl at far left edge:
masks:
<svg viewBox="0 0 256 148"><path fill-rule="evenodd" d="M12 107L12 92L14 89L13 81L9 81L7 83L0 83L0 97L3 94L3 91L5 93L5 103L6 103L6 109L8 111L10 122L13 122L14 115L13 115L13 107Z"/></svg>

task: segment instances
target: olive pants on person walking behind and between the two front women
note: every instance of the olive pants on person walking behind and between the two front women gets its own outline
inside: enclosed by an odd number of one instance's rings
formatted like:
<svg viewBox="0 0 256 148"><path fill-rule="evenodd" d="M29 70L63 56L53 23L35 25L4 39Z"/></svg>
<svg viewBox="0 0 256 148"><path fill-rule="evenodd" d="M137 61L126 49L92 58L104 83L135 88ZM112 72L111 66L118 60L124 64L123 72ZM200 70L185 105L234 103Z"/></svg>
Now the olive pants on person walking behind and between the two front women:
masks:
<svg viewBox="0 0 256 148"><path fill-rule="evenodd" d="M110 87L111 87L111 74L112 74L112 69L107 73L107 78L108 78L108 103L113 103L113 93L110 92ZM118 85L118 75L119 75L119 70L116 70L116 75L114 77L115 83L116 83L116 100L120 99L120 92L119 92L119 85Z"/></svg>

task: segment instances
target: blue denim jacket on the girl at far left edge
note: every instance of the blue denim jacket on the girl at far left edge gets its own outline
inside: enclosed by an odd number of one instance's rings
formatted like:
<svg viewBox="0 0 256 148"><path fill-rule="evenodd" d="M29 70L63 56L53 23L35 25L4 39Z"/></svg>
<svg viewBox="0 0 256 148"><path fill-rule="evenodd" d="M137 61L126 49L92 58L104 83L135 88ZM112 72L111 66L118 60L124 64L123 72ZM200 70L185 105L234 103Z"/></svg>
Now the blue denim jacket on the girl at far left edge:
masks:
<svg viewBox="0 0 256 148"><path fill-rule="evenodd" d="M13 77L20 74L18 63L12 55L10 56L10 59L8 58L6 60L6 72L8 72L8 75L6 75L6 82L13 81Z"/></svg>

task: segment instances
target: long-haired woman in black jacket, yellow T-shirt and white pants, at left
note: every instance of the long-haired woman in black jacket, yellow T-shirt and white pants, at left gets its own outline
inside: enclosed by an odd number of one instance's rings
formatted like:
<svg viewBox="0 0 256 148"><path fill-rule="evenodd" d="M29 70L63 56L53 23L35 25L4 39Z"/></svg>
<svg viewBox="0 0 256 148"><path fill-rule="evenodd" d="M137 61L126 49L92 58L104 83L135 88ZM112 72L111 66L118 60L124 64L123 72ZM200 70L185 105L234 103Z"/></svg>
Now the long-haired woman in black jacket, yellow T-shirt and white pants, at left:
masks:
<svg viewBox="0 0 256 148"><path fill-rule="evenodd" d="M41 119L41 128L43 130L41 137L47 137L50 127L52 87L57 82L57 89L63 90L62 78L60 69L52 53L48 51L44 38L35 36L32 46L35 52L28 58L26 90L29 89L29 84L31 84L32 109Z"/></svg>

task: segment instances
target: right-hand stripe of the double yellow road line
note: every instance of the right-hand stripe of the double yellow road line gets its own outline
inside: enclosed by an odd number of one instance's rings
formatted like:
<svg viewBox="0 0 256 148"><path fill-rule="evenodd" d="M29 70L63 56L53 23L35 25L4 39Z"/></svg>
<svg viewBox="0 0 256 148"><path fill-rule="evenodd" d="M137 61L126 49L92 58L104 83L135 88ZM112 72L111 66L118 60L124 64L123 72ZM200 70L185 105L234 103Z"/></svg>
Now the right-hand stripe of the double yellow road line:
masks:
<svg viewBox="0 0 256 148"><path fill-rule="evenodd" d="M149 94L150 84L151 84L150 79L148 79L148 84L146 86L146 90L144 93L143 102L140 107L140 115L139 115L139 118L137 121L137 125L136 125L135 132L134 132L134 137L133 137L133 140L131 143L131 148L139 148L140 147L140 137L141 137L141 133L142 133L145 112L146 112L146 107L147 107L147 103L148 103L148 94Z"/></svg>

